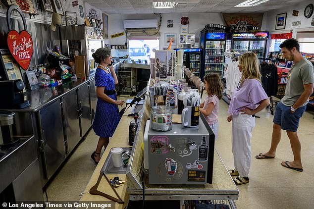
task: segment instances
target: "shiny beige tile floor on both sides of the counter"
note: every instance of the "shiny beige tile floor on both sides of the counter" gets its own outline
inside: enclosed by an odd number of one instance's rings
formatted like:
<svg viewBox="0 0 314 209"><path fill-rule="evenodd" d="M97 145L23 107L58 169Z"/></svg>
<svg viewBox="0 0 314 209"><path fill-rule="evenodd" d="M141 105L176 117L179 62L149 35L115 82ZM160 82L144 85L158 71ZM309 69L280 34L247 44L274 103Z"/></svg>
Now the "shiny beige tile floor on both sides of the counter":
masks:
<svg viewBox="0 0 314 209"><path fill-rule="evenodd" d="M203 100L206 95L203 95ZM123 100L129 98L121 98ZM231 150L231 123L227 122L228 105L219 103L219 131L215 147L227 168L233 168ZM256 127L252 138L252 165L250 183L238 186L238 209L296 209L314 208L314 119L313 112L305 112L300 127L303 172L287 169L280 165L283 160L292 160L290 142L285 132L273 159L255 159L255 155L267 151L270 146L272 118L269 110L257 114ZM47 187L49 201L78 201L95 164L90 155L94 151L98 137L91 130L84 142L79 144L67 162L55 175ZM46 197L45 197L46 198Z"/></svg>

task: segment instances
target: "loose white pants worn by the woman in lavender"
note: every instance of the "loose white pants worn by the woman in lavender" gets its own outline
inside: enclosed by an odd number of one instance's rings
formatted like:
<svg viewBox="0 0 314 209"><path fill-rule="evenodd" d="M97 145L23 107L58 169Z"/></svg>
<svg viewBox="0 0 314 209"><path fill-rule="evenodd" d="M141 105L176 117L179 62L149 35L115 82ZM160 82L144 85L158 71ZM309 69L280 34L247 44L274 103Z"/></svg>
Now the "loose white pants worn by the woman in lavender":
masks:
<svg viewBox="0 0 314 209"><path fill-rule="evenodd" d="M232 115L232 154L234 167L242 177L248 177L252 152L251 138L255 127L255 117L241 114Z"/></svg>

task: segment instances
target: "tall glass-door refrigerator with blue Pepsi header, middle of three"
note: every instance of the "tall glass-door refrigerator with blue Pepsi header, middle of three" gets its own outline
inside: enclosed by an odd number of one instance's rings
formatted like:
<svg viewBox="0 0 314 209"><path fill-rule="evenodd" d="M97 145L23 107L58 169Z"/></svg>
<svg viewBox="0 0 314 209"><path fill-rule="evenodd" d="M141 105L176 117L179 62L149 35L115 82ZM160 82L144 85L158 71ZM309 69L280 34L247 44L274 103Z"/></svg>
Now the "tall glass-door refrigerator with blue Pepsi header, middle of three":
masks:
<svg viewBox="0 0 314 209"><path fill-rule="evenodd" d="M224 52L226 46L225 33L202 33L200 46L203 47L204 61L201 78L209 72L223 76Z"/></svg>

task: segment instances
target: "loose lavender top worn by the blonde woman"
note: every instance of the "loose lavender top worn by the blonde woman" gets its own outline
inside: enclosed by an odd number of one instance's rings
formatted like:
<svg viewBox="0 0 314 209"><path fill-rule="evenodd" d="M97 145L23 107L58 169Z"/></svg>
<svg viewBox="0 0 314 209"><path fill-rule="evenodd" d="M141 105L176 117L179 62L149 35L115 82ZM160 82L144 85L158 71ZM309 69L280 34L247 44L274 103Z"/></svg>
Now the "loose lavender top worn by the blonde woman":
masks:
<svg viewBox="0 0 314 209"><path fill-rule="evenodd" d="M262 84L256 79L246 79L241 88L234 90L230 101L228 112L237 115L242 107L255 109L262 100L268 99Z"/></svg>

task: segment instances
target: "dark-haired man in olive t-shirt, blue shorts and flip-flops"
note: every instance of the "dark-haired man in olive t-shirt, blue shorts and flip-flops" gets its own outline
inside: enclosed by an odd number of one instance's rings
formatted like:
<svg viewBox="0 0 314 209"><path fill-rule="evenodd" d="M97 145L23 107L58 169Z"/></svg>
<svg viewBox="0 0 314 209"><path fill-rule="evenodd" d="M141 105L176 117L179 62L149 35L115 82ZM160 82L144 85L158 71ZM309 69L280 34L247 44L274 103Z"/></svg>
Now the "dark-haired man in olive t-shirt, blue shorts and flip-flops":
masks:
<svg viewBox="0 0 314 209"><path fill-rule="evenodd" d="M281 165L297 171L303 171L301 162L301 143L297 134L309 97L313 94L314 68L312 62L302 57L300 45L295 39L287 39L280 46L283 57L294 64L287 79L285 96L276 106L273 119L271 145L268 152L256 156L257 159L273 158L280 142L281 130L286 130L293 152L293 161L282 161Z"/></svg>

